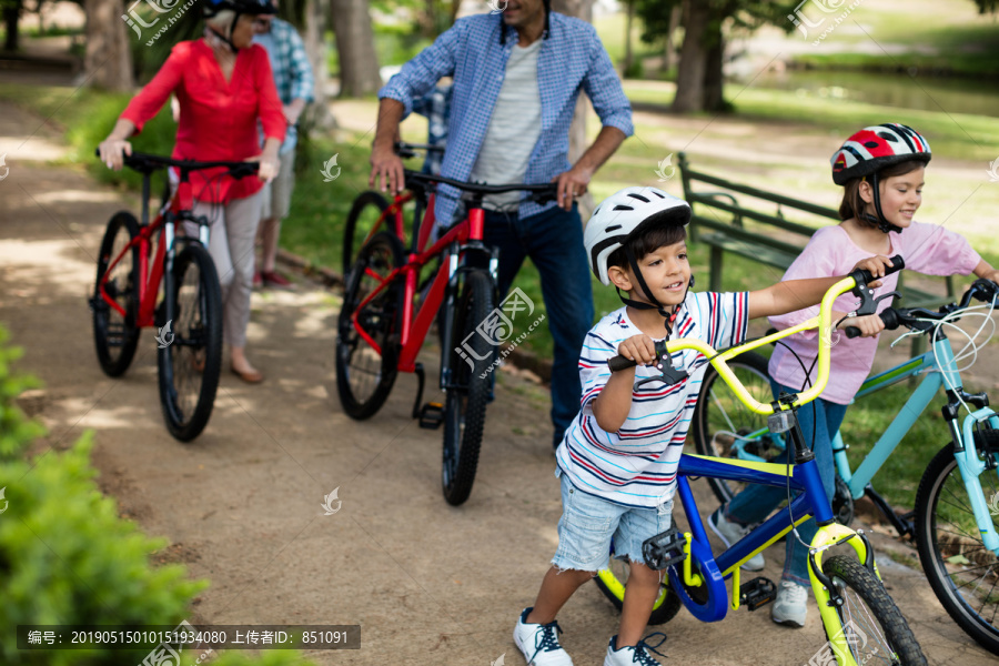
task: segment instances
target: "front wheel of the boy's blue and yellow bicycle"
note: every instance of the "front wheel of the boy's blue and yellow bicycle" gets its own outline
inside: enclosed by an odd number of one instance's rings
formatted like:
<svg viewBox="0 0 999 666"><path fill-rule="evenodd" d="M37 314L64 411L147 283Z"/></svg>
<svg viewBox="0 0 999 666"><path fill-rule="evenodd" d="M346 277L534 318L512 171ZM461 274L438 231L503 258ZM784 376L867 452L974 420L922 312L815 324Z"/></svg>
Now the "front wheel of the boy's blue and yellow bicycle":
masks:
<svg viewBox="0 0 999 666"><path fill-rule="evenodd" d="M844 602L837 608L835 626L825 626L826 637L830 640L845 638L849 656L856 664L926 664L912 629L870 569L856 559L836 555L823 563L823 573L833 581ZM823 649L831 648L826 645ZM836 655L835 650L833 654ZM821 663L831 662L825 659ZM850 662L836 655L836 663Z"/></svg>

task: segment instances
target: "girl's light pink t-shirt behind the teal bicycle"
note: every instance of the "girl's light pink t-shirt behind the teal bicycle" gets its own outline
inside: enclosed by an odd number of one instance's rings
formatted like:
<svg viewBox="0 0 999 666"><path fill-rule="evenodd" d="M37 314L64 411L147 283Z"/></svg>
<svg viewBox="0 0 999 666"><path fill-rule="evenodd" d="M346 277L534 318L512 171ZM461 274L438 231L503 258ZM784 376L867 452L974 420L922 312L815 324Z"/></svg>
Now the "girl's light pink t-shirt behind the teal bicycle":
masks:
<svg viewBox="0 0 999 666"><path fill-rule="evenodd" d="M888 256L901 254L906 260L906 270L917 273L968 275L981 261L978 252L963 236L937 224L912 222L905 232L892 232L888 234L888 238L891 242L891 251ZM846 275L857 265L857 262L869 256L871 253L858 248L841 225L825 226L815 232L808 245L784 274L784 280ZM875 290L875 297L896 289L898 273L888 275L882 282L884 284ZM885 299L878 304L878 312L890 305L891 299ZM905 307L905 303L900 302L899 306ZM852 312L856 307L856 296L846 293L836 300L833 310ZM818 305L814 305L789 314L771 316L770 323L777 329L788 329L818 315ZM870 373L878 349L878 339L855 337L850 340L841 330L838 333L839 340L833 346L829 383L821 397L845 405L854 398L860 384ZM833 339L836 340L836 333L833 334ZM818 354L818 332L813 330L797 333L785 337L784 342L800 356L806 369L813 369L810 379L814 379L813 362ZM801 367L794 354L781 345L777 345L774 355L770 356L769 372L776 382L785 386L800 389L805 385L805 369Z"/></svg>

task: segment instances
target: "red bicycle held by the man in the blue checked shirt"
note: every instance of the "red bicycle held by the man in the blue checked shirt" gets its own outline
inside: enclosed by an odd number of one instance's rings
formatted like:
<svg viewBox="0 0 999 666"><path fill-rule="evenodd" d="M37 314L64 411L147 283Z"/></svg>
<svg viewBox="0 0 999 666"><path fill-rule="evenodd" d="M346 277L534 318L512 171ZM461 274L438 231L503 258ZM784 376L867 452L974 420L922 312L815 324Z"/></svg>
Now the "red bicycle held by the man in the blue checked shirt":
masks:
<svg viewBox="0 0 999 666"><path fill-rule="evenodd" d="M475 481L492 386L487 374L498 344L496 331L505 319L495 306L497 252L482 241L482 198L526 191L529 200L544 203L555 199L556 190L554 183L483 185L412 171L405 171L405 182L410 192L396 195L382 211L345 276L336 387L350 416L369 418L387 400L398 372L415 373L413 418L421 427L444 425L444 498L458 505L468 498ZM467 216L426 248L438 183L466 193ZM371 194L361 194L359 201ZM405 250L402 205L412 198L426 214L422 224L414 218L411 248ZM437 259L438 268L421 285L421 270ZM423 404L424 370L416 355L435 317L442 336L444 402Z"/></svg>

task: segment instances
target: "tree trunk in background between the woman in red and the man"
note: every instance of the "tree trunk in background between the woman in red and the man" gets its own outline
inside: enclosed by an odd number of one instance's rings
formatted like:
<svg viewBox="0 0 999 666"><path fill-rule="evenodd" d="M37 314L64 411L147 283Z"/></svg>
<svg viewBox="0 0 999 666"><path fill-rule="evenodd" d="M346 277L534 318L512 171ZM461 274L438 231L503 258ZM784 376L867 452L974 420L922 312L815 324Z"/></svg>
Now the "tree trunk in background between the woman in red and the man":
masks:
<svg viewBox="0 0 999 666"><path fill-rule="evenodd" d="M331 16L340 54L340 95L362 97L382 87L367 0L332 0Z"/></svg>

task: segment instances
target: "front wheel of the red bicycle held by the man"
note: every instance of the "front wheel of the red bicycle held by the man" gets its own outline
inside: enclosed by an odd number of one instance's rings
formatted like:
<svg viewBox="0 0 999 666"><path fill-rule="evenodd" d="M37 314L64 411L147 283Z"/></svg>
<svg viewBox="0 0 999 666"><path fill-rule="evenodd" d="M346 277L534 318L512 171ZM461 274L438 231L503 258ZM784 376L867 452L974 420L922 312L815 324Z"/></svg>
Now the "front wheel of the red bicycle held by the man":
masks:
<svg viewBox="0 0 999 666"><path fill-rule="evenodd" d="M451 379L444 398L444 498L457 506L468 498L478 465L491 381L483 376L496 353L490 340L476 333L493 311L493 282L485 271L465 275L455 303ZM471 349L470 349L471 347ZM458 350L461 350L461 355Z"/></svg>

